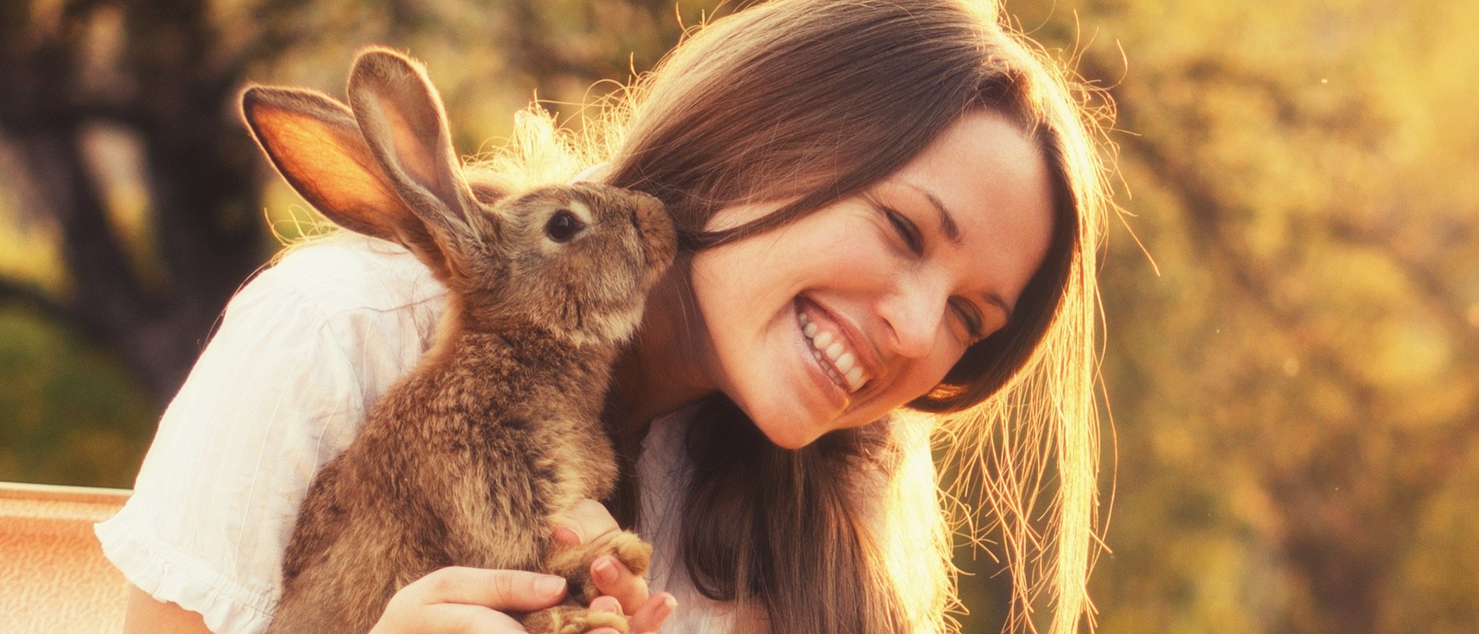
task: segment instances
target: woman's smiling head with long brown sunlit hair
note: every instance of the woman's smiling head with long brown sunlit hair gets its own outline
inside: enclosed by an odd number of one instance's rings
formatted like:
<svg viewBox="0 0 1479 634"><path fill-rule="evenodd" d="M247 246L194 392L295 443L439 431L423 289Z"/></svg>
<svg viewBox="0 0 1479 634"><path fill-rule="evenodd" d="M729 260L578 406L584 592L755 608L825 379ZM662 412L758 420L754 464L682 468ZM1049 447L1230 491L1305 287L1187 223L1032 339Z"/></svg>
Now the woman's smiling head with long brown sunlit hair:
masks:
<svg viewBox="0 0 1479 634"><path fill-rule="evenodd" d="M905 486L923 452L911 424L871 424L898 408L945 414L948 500L985 492L1000 520L1010 621L1040 593L1055 631L1087 606L1103 167L1086 93L995 10L762 4L686 41L620 127L606 180L663 198L695 253L652 296L617 411L698 403L683 563L772 631L944 627L945 541L913 578L886 563L939 511L880 528L856 494L870 468Z"/></svg>

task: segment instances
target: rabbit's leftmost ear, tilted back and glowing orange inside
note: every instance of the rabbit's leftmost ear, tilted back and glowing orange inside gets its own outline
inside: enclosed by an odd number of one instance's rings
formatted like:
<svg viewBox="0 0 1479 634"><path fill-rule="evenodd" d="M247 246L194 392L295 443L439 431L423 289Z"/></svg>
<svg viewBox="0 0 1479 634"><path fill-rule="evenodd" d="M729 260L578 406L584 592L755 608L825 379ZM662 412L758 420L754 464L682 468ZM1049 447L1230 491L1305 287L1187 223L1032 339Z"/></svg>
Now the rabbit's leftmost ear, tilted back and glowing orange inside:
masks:
<svg viewBox="0 0 1479 634"><path fill-rule="evenodd" d="M299 89L253 86L241 117L293 189L345 229L399 242L445 272L422 220L376 160L349 106Z"/></svg>

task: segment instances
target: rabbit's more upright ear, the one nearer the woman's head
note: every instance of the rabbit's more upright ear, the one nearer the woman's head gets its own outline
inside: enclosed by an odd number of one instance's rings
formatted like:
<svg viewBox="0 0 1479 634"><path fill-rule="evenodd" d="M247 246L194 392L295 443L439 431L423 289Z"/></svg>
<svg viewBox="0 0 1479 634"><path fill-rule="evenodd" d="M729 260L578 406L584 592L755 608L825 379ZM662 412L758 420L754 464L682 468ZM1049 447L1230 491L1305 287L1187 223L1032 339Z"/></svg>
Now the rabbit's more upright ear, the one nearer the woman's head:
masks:
<svg viewBox="0 0 1479 634"><path fill-rule="evenodd" d="M390 185L432 234L456 250L476 235L472 223L491 220L473 211L441 96L420 64L386 49L359 53L349 106Z"/></svg>

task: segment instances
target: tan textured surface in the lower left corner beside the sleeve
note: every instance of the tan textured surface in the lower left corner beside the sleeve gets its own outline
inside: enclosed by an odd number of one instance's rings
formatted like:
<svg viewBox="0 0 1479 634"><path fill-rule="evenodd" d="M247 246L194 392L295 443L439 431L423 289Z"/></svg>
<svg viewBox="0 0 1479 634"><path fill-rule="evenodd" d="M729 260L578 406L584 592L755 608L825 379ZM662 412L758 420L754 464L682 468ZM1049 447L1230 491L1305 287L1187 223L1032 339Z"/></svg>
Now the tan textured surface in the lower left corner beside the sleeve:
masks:
<svg viewBox="0 0 1479 634"><path fill-rule="evenodd" d="M123 489L0 482L0 633L117 633L127 585L102 557L93 522Z"/></svg>

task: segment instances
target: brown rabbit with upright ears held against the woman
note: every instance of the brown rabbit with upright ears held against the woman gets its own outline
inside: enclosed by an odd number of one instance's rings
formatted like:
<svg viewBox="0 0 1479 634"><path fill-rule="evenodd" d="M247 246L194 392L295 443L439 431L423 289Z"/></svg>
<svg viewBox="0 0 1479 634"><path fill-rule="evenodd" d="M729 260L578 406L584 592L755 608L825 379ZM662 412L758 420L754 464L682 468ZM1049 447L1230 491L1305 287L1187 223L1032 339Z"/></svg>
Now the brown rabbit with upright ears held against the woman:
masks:
<svg viewBox="0 0 1479 634"><path fill-rule="evenodd" d="M617 480L599 417L617 347L673 260L661 202L598 185L494 202L497 188L464 180L420 65L389 50L355 61L349 106L248 87L241 109L303 198L404 245L448 290L435 346L309 486L269 631L364 633L396 590L444 566L563 575L583 601L598 556L645 572L651 547L636 535L562 547L552 532L558 513ZM524 624L627 631L572 601Z"/></svg>

